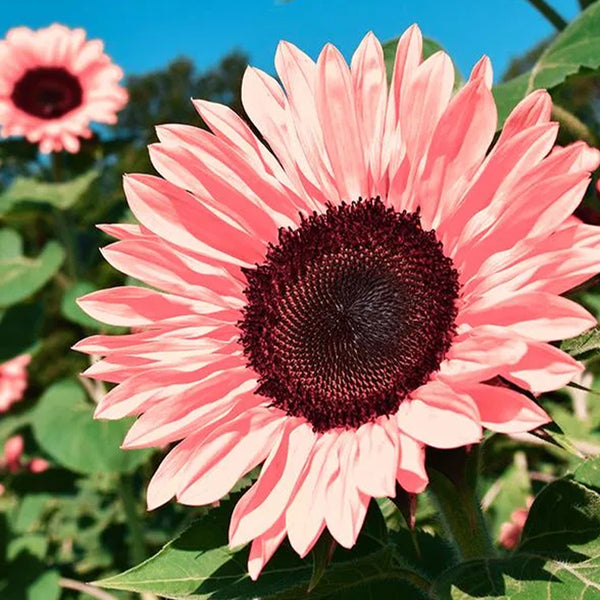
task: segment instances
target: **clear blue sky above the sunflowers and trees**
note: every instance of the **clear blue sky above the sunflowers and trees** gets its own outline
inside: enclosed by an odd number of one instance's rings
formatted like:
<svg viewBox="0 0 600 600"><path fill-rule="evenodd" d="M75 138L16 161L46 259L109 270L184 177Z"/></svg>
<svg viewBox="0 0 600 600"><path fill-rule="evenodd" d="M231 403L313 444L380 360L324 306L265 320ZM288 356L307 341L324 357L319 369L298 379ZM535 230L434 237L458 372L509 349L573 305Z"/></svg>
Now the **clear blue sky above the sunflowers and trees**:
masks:
<svg viewBox="0 0 600 600"><path fill-rule="evenodd" d="M552 4L567 19L577 13L577 0ZM417 22L463 72L486 53L498 76L512 56L552 31L526 0L28 0L2 3L0 33L53 21L104 39L127 73L181 55L208 67L232 48L273 72L280 39L315 57L333 42L349 58L367 31L387 40Z"/></svg>

